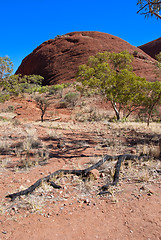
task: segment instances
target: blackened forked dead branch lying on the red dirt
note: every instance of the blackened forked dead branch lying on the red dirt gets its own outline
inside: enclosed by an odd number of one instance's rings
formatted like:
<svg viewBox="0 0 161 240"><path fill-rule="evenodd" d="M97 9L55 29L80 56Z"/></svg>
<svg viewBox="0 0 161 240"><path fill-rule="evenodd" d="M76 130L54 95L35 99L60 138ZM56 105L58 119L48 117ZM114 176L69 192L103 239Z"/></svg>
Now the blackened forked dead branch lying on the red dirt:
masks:
<svg viewBox="0 0 161 240"><path fill-rule="evenodd" d="M86 168L83 170L75 170L75 169L74 170L64 170L64 169L57 170L44 178L40 178L39 180L37 180L33 185L31 185L27 189L20 191L20 192L9 194L6 196L6 198L10 198L12 201L14 201L18 196L28 195L29 193L32 193L37 187L39 187L42 182L48 182L52 187L59 189L59 188L61 188L60 185L57 185L53 181L50 181L54 176L57 176L59 174L64 174L64 175L74 174L77 176L87 177L89 171L91 171L92 169L99 168L104 162L106 162L108 160L117 160L117 163L115 166L115 174L114 174L113 182L107 183L106 185L102 186L102 188L101 188L102 190L99 193L99 195L106 194L106 193L108 193L107 190L108 190L109 186L116 185L119 181L119 173L120 173L121 163L124 160L136 160L136 159L140 160L141 158L147 159L148 157L147 156L136 156L136 155L131 155L131 154L124 154L124 155L118 155L118 156L105 155L101 160L99 160L97 163L95 163L94 165L92 165L89 168Z"/></svg>

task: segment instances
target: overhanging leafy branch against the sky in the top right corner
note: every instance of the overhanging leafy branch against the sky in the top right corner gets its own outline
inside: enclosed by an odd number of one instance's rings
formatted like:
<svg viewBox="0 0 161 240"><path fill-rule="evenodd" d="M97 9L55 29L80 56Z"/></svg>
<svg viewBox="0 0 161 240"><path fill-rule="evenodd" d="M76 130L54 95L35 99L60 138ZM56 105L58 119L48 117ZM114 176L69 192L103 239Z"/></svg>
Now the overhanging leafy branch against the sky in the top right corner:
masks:
<svg viewBox="0 0 161 240"><path fill-rule="evenodd" d="M146 17L155 16L157 19L161 19L160 0L138 0L137 5L139 6L137 13L141 13Z"/></svg>

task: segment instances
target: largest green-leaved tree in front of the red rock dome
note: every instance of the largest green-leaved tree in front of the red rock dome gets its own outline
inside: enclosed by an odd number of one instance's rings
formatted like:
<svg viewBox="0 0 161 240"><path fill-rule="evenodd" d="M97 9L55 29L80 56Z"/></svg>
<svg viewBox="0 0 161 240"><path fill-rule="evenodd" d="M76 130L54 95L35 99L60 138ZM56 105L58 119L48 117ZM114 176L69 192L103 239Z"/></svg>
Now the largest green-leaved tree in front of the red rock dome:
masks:
<svg viewBox="0 0 161 240"><path fill-rule="evenodd" d="M93 89L111 102L117 120L123 110L128 117L144 99L146 80L132 72L133 56L127 51L98 53L88 63L79 66L78 90Z"/></svg>

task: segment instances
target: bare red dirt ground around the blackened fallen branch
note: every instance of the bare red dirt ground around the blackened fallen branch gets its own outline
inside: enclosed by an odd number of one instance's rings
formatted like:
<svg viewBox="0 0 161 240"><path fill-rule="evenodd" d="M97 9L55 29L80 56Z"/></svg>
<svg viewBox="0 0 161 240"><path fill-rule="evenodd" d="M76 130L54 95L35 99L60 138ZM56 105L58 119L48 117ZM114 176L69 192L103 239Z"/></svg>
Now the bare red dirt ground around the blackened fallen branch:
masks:
<svg viewBox="0 0 161 240"><path fill-rule="evenodd" d="M127 140L146 137L156 139L159 135L150 132L139 133L130 129L115 130L112 125L100 123L78 123L73 122L71 116L74 111L66 109L55 109L60 120L45 121L47 126L42 125L39 120L39 109L35 103L24 99L8 102L0 105L7 108L8 105L18 106L15 112L21 122L14 125L1 125L1 140L25 141L28 135L26 130L36 131L37 138L49 148L50 153L56 154L48 160L46 165L38 165L28 170L15 170L13 168L0 168L0 239L12 240L160 240L161 239L161 188L160 178L149 181L136 181L139 171L144 168L146 162L140 166L135 178L122 175L120 183L115 187L111 195L96 195L97 189L92 194L87 194L83 189L77 189L80 182L72 178L61 180L62 190L46 189L37 191L29 197L22 197L10 202L5 199L6 194L15 192L20 186L28 187L42 176L46 176L60 168L83 168L85 163L95 158L101 158L103 154L122 154L137 151L136 146L127 144ZM50 112L54 111L54 105L48 110L45 119L50 118ZM37 122L37 124L36 124ZM35 125L34 125L35 124ZM64 124L64 125L63 125ZM67 125L69 124L69 126ZM88 125L87 125L88 124ZM7 126L7 127L6 127ZM88 126L88 127L87 127ZM56 135L49 138L47 130L55 131ZM30 133L31 134L31 133ZM33 133L34 134L34 133ZM159 134L159 133L158 133ZM10 137L9 137L10 136ZM25 137L26 136L26 137ZM34 135L35 137L35 135ZM7 140L6 140L7 139ZM58 140L65 141L65 149L58 149ZM109 147L100 147L100 142L105 139L111 142ZM78 141L78 142L76 142ZM78 143L88 144L88 148L75 148ZM150 141L150 140L149 140ZM148 142L149 144L150 142ZM145 144L145 142L144 142ZM86 147L86 145L83 145ZM145 145L144 145L145 146ZM78 146L77 146L78 147ZM138 152L136 153L138 154ZM99 156L99 157L98 157ZM6 153L1 159L9 159L10 162L17 161L15 155ZM150 164L158 164L151 162ZM112 165L113 166L113 165ZM155 165L156 166L156 165ZM126 169L126 167L125 167ZM132 168L133 169L133 168ZM122 171L122 174L124 171ZM129 173L129 172L128 172ZM130 175L129 175L130 176ZM93 185L102 184L102 179L94 180ZM66 186L67 185L67 186ZM75 189L76 188L76 189ZM37 205L44 199L44 207L34 211L27 201L35 197ZM33 206L33 205L32 205ZM3 213L3 209L5 212ZM2 212L2 213L1 213Z"/></svg>

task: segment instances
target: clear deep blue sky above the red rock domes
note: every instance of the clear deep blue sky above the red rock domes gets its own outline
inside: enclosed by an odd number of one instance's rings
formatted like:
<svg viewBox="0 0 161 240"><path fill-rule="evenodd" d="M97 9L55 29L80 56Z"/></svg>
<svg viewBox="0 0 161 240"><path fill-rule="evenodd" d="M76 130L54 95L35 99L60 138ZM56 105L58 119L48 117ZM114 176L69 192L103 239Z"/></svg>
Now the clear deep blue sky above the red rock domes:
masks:
<svg viewBox="0 0 161 240"><path fill-rule="evenodd" d="M14 71L37 46L56 35L99 31L139 46L161 37L161 20L136 14L137 0L0 0L0 56Z"/></svg>

